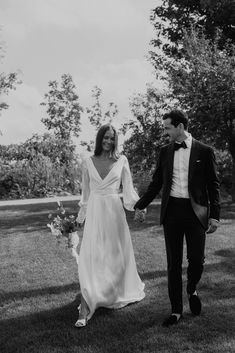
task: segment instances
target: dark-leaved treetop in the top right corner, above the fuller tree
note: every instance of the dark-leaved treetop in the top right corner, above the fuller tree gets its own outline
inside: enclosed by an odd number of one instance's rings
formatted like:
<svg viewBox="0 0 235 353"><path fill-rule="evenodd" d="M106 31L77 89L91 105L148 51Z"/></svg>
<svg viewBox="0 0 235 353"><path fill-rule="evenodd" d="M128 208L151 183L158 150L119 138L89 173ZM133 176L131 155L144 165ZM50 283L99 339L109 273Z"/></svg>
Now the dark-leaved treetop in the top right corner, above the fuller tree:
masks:
<svg viewBox="0 0 235 353"><path fill-rule="evenodd" d="M152 11L150 21L156 33L151 41L150 59L157 71L167 68L166 57L184 57L183 33L191 26L202 29L206 38L212 40L219 29L220 49L227 39L235 43L234 0L163 0Z"/></svg>

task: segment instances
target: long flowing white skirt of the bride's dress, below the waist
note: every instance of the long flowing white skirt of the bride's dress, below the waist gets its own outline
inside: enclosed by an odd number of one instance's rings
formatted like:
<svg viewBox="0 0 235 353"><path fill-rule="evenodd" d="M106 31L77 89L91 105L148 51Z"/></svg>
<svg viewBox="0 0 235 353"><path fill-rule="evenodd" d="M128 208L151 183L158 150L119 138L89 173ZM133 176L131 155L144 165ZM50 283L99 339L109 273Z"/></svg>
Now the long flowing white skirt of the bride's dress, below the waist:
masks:
<svg viewBox="0 0 235 353"><path fill-rule="evenodd" d="M89 307L118 309L144 298L120 197L90 195L78 264L81 293Z"/></svg>

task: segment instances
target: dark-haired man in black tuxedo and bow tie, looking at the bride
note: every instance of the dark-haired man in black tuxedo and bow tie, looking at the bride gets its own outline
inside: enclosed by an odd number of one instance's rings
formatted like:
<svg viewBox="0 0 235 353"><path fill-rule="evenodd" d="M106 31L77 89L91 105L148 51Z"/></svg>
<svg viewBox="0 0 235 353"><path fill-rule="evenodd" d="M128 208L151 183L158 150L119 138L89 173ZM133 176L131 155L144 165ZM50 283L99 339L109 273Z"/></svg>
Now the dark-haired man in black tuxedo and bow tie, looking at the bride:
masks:
<svg viewBox="0 0 235 353"><path fill-rule="evenodd" d="M182 318L182 257L184 236L187 245L187 294L194 315L201 313L196 286L204 263L205 237L219 224L219 181L211 147L188 133L188 117L180 110L163 116L170 144L160 149L152 182L135 204L136 218L143 220L140 210L162 189L160 223L163 224L168 268L168 293L171 315L163 326L177 324Z"/></svg>

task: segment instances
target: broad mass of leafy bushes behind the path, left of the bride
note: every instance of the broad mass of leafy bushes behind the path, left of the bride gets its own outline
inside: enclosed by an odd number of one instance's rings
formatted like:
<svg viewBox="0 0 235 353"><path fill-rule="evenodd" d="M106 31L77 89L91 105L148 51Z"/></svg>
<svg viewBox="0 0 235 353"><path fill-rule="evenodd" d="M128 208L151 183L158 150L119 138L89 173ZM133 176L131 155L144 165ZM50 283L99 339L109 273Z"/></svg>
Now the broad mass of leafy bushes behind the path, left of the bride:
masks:
<svg viewBox="0 0 235 353"><path fill-rule="evenodd" d="M0 198L78 193L79 180L81 165L71 140L46 133L0 145Z"/></svg>

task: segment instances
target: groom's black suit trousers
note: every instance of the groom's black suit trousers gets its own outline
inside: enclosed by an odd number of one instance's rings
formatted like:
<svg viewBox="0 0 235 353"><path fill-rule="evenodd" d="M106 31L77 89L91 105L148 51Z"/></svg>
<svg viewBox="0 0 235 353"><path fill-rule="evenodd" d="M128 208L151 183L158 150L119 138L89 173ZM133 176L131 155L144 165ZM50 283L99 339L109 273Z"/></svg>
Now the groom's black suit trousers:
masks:
<svg viewBox="0 0 235 353"><path fill-rule="evenodd" d="M190 200L170 197L163 222L168 264L168 292L172 312L181 314L182 259L184 235L187 246L187 293L199 282L204 263L205 229L196 217Z"/></svg>

